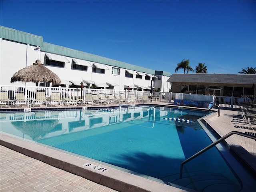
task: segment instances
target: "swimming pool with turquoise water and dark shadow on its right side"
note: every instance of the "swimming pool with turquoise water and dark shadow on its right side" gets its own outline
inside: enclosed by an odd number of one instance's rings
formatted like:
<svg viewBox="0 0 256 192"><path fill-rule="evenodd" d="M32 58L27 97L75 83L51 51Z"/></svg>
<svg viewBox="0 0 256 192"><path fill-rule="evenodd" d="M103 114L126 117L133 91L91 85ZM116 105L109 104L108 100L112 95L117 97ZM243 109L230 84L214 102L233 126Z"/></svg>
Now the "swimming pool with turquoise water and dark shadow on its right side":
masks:
<svg viewBox="0 0 256 192"><path fill-rule="evenodd" d="M225 191L242 189L240 179L216 148L186 164L184 177L179 179L180 163L212 143L196 120L206 115L204 111L156 107L152 113L152 108L131 106L113 111L0 115L3 132L112 164L152 180L197 191L213 188L216 191L219 187ZM169 120L170 117L176 121Z"/></svg>

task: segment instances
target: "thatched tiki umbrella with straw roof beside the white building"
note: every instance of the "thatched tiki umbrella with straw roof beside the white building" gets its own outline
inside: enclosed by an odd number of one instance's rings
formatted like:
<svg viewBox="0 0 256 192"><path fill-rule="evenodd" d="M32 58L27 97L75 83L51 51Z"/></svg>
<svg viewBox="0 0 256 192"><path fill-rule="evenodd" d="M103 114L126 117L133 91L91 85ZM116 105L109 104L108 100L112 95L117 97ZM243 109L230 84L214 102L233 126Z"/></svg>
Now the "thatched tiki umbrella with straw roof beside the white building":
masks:
<svg viewBox="0 0 256 192"><path fill-rule="evenodd" d="M33 65L16 72L11 78L11 83L16 81L34 82L36 86L39 82L52 82L53 84L60 84L61 82L58 75L46 68L40 60L36 60Z"/></svg>

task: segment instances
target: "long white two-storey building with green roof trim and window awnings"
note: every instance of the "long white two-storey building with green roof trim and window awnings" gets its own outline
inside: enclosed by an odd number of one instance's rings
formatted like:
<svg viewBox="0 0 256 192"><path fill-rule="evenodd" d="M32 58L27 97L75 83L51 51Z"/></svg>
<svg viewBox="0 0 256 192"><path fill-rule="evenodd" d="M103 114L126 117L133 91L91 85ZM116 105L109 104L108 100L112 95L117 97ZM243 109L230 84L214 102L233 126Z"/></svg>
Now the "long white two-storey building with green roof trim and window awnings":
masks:
<svg viewBox="0 0 256 192"><path fill-rule="evenodd" d="M123 90L150 89L151 80L155 90L169 92L170 72L155 71L117 60L104 58L43 42L43 37L0 26L0 85L12 85L10 79L18 70L32 65L37 59L56 73L61 86L84 86L95 84L97 88ZM22 85L24 82L15 82ZM35 85L28 82L27 85ZM58 86L48 84L46 86Z"/></svg>

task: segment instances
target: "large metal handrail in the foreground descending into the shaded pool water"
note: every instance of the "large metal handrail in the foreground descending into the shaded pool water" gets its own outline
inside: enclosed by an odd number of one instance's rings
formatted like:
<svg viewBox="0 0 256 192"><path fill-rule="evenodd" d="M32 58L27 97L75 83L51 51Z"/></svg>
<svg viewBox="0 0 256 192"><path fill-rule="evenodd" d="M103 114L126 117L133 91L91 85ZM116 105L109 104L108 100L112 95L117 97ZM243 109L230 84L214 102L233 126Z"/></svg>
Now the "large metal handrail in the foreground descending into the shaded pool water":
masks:
<svg viewBox="0 0 256 192"><path fill-rule="evenodd" d="M202 154L203 152L206 152L208 149L212 148L213 146L215 146L216 144L220 143L222 140L228 138L229 136L231 136L231 135L233 135L233 134L237 134L237 135L240 135L240 136L244 136L244 137L247 137L247 138L251 138L251 139L256 140L256 137L255 137L255 136L252 136L252 135L249 135L249 134L245 134L245 133L238 132L238 131L229 132L228 134L224 135L222 138L216 140L216 141L213 142L212 144L208 145L207 147L203 148L202 150L200 150L200 151L197 152L196 154L192 155L190 158L184 160L184 161L180 164L180 179L182 178L183 165L184 165L185 163L187 163L187 162L189 162L190 160L196 158L197 156L199 156L199 155Z"/></svg>

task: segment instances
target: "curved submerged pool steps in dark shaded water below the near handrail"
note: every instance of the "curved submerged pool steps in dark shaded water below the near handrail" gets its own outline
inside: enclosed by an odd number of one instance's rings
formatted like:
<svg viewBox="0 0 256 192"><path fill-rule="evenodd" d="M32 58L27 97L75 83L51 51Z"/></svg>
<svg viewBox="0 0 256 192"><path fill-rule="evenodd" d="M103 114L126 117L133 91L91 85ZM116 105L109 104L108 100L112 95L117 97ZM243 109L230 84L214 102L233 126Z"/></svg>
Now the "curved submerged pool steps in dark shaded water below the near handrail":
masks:
<svg viewBox="0 0 256 192"><path fill-rule="evenodd" d="M181 179L176 174L162 180L199 192L239 192L241 190L239 184L218 173L190 172L189 175L183 174Z"/></svg>

